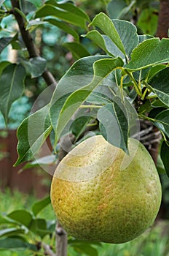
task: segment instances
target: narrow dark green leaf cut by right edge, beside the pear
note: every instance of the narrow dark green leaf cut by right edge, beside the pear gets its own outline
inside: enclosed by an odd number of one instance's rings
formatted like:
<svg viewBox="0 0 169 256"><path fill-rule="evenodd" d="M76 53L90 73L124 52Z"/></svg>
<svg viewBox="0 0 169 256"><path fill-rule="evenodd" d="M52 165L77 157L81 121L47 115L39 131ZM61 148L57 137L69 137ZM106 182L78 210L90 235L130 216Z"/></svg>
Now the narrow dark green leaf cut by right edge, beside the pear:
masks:
<svg viewBox="0 0 169 256"><path fill-rule="evenodd" d="M162 146L160 150L160 157L162 159L165 171L169 177L169 142L166 143L165 140L162 141Z"/></svg>

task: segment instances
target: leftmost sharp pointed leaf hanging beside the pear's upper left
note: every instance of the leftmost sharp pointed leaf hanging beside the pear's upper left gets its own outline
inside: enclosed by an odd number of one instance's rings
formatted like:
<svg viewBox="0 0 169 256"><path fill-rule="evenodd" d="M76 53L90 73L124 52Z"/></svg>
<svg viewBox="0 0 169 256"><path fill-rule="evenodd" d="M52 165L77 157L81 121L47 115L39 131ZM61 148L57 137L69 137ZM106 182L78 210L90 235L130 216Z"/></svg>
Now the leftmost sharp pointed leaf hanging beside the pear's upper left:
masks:
<svg viewBox="0 0 169 256"><path fill-rule="evenodd" d="M14 166L32 159L51 130L48 105L25 118L17 129L18 159Z"/></svg>

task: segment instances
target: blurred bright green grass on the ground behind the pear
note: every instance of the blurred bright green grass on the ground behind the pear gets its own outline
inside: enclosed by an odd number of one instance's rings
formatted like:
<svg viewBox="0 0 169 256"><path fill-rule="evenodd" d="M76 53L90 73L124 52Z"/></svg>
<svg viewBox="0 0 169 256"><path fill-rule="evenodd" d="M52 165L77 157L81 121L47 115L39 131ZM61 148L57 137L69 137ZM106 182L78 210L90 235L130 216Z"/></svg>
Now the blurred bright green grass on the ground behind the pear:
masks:
<svg viewBox="0 0 169 256"><path fill-rule="evenodd" d="M0 193L0 211L9 213L16 209L25 208L31 210L32 204L36 201L34 195L23 195L20 192L11 192L6 189ZM49 205L39 214L44 219L55 219L52 206ZM50 241L49 238L45 239ZM92 245L98 250L98 256L169 256L169 221L159 221L152 228L149 228L143 235L125 244L101 244ZM85 244L82 243L82 248ZM31 256L28 251L1 251L1 256ZM68 246L68 256L85 255L82 251L76 252L74 247ZM92 255L93 256L93 255Z"/></svg>

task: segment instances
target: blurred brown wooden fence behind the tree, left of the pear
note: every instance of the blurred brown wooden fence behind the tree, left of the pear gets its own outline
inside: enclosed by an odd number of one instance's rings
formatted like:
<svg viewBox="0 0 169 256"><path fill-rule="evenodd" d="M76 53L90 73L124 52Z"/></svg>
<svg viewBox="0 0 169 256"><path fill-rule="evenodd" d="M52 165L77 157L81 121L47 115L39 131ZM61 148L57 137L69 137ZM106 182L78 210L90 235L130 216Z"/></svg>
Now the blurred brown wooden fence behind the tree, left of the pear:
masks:
<svg viewBox="0 0 169 256"><path fill-rule="evenodd" d="M0 189L9 187L20 192L34 192L37 197L43 197L50 191L50 186L45 185L44 180L50 184L52 176L39 167L19 172L23 165L13 167L17 159L16 146L16 130L0 130Z"/></svg>

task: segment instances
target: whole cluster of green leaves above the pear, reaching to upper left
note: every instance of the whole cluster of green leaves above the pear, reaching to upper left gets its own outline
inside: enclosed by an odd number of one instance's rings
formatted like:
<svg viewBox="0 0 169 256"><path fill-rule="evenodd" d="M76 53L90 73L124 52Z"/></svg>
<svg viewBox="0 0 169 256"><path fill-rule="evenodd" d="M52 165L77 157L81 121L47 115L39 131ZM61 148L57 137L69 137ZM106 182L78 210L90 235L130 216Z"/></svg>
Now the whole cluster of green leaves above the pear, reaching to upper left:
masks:
<svg viewBox="0 0 169 256"><path fill-rule="evenodd" d="M50 23L66 31L74 37L74 42L67 42L66 47L77 61L60 79L47 105L25 118L18 128L19 157L15 165L34 158L51 132L55 133L55 151L63 135L72 132L78 140L85 129L93 129L95 124L95 132L127 152L128 138L139 137L138 124L142 118L151 121L162 134L161 157L168 173L169 40L139 35L133 23L111 19L103 12L90 20L86 12L69 1L29 4L29 10L34 7L34 11L27 12L24 4L13 10L23 18L25 30L31 33ZM5 1L1 12L11 13ZM90 56L79 41L76 27L103 54ZM1 50L9 44L16 45L18 39L18 33L15 37L1 37ZM6 123L12 102L23 94L26 74L37 78L46 67L47 62L40 56L17 64L2 63L0 110Z"/></svg>

